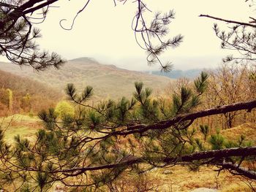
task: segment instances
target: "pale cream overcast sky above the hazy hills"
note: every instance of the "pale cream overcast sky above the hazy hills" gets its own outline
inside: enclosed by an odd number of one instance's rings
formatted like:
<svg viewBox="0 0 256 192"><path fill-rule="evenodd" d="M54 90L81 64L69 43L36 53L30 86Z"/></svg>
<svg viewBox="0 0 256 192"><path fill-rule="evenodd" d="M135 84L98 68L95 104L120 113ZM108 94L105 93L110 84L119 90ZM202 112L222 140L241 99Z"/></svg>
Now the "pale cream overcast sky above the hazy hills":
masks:
<svg viewBox="0 0 256 192"><path fill-rule="evenodd" d="M86 1L60 0L50 7L46 20L36 25L41 29L42 38L37 40L43 50L59 53L66 59L91 57L102 64L114 64L124 69L155 70L159 65L148 66L146 53L135 42L131 28L137 4L128 0L126 4L113 0L91 0L88 7L80 12L72 30L69 28ZM214 34L213 23L226 28L209 18L199 18L208 14L219 18L247 22L252 10L244 0L144 0L154 12L168 12L173 9L176 19L170 23L170 34L184 36L184 42L176 49L170 49L161 56L162 61L172 61L174 69L194 69L216 67L221 63L227 50L220 49L219 39ZM1 58L3 60L3 58Z"/></svg>

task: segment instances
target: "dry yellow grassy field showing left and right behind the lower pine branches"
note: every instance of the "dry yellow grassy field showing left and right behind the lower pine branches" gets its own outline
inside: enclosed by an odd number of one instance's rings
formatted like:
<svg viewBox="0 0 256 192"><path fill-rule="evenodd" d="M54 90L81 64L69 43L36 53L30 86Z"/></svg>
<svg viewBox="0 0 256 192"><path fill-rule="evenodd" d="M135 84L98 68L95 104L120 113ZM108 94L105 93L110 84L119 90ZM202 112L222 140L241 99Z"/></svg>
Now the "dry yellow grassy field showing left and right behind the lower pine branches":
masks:
<svg viewBox="0 0 256 192"><path fill-rule="evenodd" d="M27 115L13 115L1 118L1 128L6 129L5 139L12 143L13 137L20 134L22 137L34 139L38 128L42 128L40 120ZM227 139L237 139L241 134L247 140L256 141L256 125L246 123L242 126L222 130ZM169 172L166 172L168 170ZM233 176L229 172L217 172L217 167L201 166L199 171L191 172L185 166L174 166L167 169L153 169L148 172L149 182L157 185L154 191L191 191L195 188L215 188L222 192L252 191L242 177ZM253 185L255 185L254 183Z"/></svg>

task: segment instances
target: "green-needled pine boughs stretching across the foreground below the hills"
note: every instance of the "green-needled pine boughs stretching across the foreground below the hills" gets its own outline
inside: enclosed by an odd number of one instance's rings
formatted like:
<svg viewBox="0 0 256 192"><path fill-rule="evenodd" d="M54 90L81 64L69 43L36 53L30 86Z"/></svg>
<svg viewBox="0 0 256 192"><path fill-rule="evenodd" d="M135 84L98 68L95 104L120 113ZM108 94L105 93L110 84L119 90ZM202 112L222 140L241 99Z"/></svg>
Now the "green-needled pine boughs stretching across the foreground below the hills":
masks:
<svg viewBox="0 0 256 192"><path fill-rule="evenodd" d="M196 112L206 91L208 74L202 73L192 87L181 87L165 101L151 96L151 89L135 82L132 99L102 101L89 105L93 88L78 93L67 85L69 100L77 105L75 115L42 111L36 141L15 137L15 144L4 142L0 132L1 188L26 183L24 190L47 191L53 183L69 187L102 188L111 185L129 170L140 174L154 167L187 163L190 169L202 164L256 179L255 171L242 162L255 161L256 147L225 139L219 132L209 134L208 126L191 125L197 118L236 110L251 110L256 101L230 104ZM243 166L241 166L243 165Z"/></svg>

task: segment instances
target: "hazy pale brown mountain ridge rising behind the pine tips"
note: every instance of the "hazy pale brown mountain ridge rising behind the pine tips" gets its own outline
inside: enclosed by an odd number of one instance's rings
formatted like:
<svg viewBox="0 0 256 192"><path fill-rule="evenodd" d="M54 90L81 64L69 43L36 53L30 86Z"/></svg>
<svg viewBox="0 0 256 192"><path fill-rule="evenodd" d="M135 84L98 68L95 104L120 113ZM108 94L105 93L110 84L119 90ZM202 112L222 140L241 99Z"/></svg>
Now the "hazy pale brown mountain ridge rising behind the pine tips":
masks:
<svg viewBox="0 0 256 192"><path fill-rule="evenodd" d="M59 70L47 69L43 72L35 72L31 67L20 67L9 63L0 63L0 69L36 80L63 94L69 82L74 83L78 91L91 85L94 88L96 100L118 99L121 96L130 98L135 91L134 82L136 81L141 81L147 87L153 88L154 93L161 92L172 81L167 77L99 64L93 58L76 58L67 61Z"/></svg>

